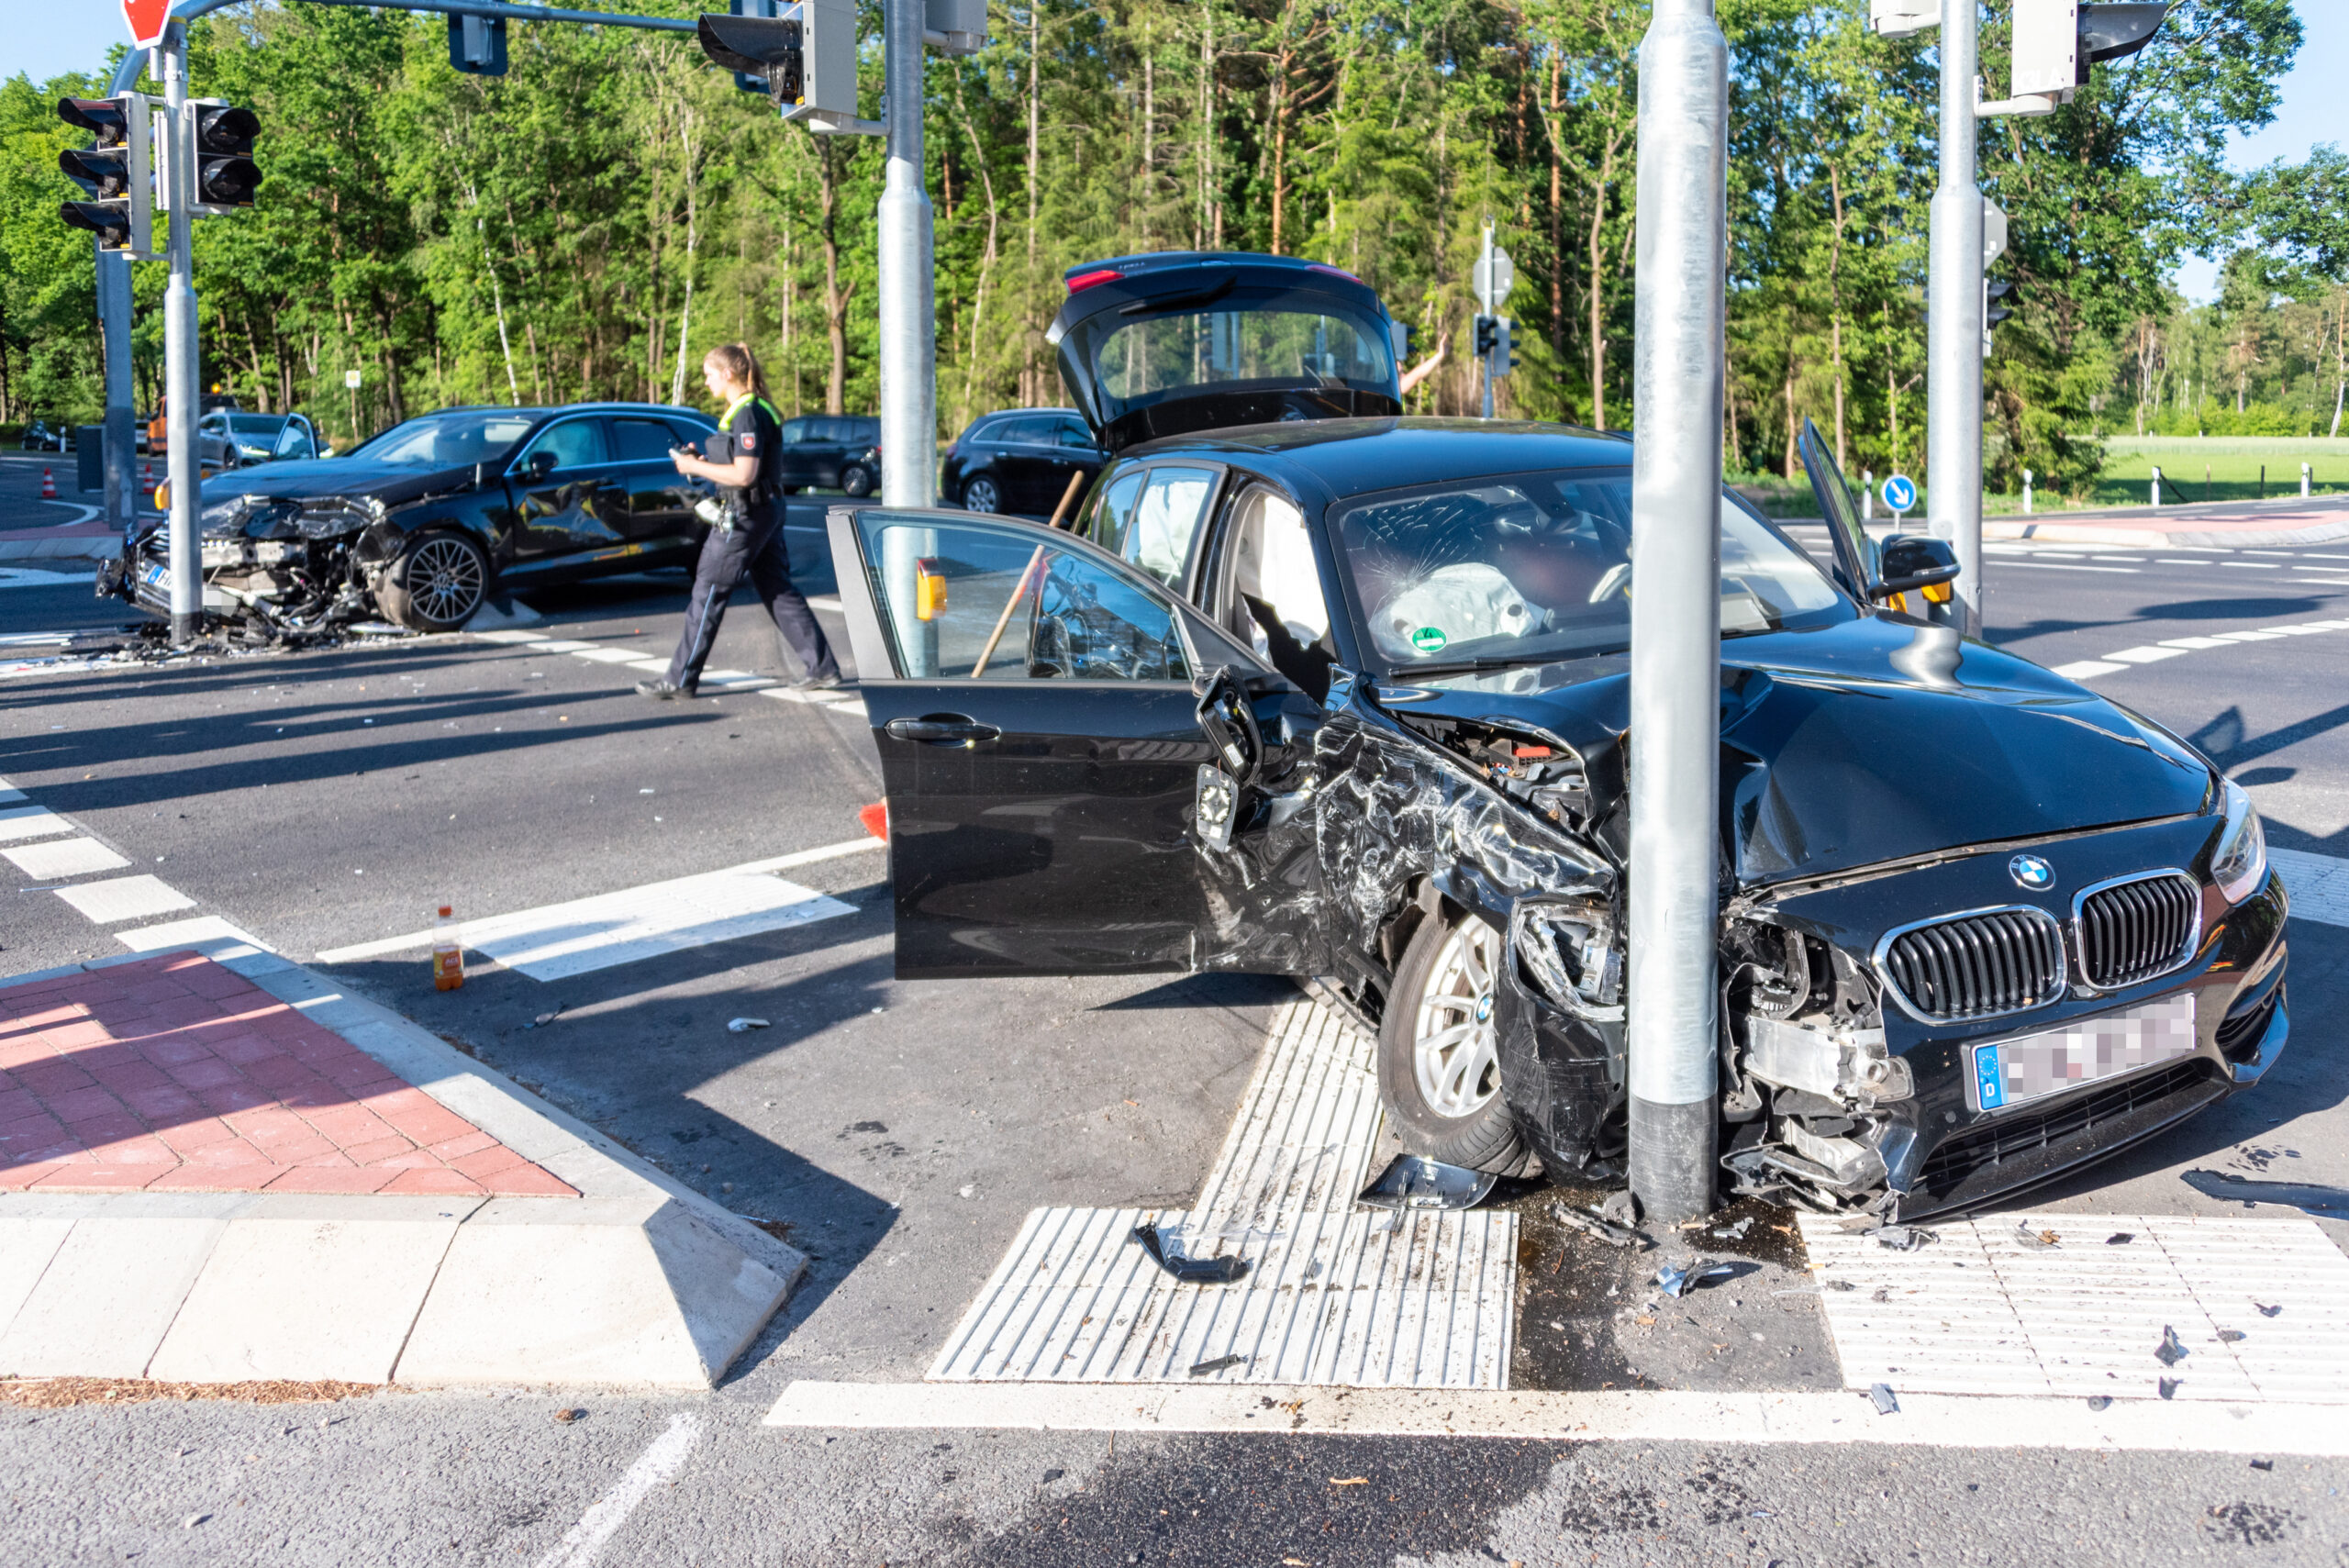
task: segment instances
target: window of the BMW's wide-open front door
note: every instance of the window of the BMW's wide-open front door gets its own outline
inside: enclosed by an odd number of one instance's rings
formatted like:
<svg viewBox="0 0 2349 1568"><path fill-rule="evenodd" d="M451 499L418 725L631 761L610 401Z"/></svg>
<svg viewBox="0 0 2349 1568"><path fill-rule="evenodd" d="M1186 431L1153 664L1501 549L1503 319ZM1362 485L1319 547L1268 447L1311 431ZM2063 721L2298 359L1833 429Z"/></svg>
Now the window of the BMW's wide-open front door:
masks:
<svg viewBox="0 0 2349 1568"><path fill-rule="evenodd" d="M864 561L900 676L1189 681L1174 601L1034 530L862 514Z"/></svg>

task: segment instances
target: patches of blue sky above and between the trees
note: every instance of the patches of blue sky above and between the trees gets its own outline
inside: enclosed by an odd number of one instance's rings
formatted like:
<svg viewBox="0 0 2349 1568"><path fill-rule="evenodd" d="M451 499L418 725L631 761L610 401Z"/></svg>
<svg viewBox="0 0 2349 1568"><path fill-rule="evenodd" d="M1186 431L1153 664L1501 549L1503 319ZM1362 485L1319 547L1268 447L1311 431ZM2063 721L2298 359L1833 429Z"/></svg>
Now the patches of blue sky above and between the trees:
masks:
<svg viewBox="0 0 2349 1568"><path fill-rule="evenodd" d="M2232 157L2239 169L2307 157L2321 141L2349 141L2349 115L2333 96L2349 80L2349 5L2297 0L2295 9L2307 40L2293 73L2283 77L2283 108L2267 129L2234 138ZM0 0L0 77L23 70L42 82L63 70L96 70L106 49L127 40L122 9L108 0ZM2187 261L2178 284L2189 298L2206 300L2215 275L2210 263Z"/></svg>

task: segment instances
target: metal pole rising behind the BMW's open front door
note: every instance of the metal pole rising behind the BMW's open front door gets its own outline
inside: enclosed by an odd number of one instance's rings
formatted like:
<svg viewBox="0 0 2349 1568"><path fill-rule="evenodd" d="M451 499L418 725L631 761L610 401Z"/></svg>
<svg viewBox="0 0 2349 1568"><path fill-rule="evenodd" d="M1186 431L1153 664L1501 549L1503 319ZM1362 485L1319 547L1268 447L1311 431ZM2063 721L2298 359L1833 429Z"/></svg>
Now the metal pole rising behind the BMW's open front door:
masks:
<svg viewBox="0 0 2349 1568"><path fill-rule="evenodd" d="M883 2L888 178L881 185L881 495L937 500L937 336L930 190L921 167L923 0Z"/></svg>

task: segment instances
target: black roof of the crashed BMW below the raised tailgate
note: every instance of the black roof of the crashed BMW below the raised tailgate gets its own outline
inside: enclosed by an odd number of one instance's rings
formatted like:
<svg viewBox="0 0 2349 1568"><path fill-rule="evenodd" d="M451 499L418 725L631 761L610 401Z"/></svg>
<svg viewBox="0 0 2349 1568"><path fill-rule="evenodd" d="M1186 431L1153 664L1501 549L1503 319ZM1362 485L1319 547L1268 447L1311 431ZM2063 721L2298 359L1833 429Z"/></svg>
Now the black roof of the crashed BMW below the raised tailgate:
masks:
<svg viewBox="0 0 2349 1568"><path fill-rule="evenodd" d="M1489 479L1536 469L1628 467L1630 439L1534 420L1374 418L1240 425L1130 446L1137 458L1238 460L1273 477L1304 477L1334 498L1414 484Z"/></svg>

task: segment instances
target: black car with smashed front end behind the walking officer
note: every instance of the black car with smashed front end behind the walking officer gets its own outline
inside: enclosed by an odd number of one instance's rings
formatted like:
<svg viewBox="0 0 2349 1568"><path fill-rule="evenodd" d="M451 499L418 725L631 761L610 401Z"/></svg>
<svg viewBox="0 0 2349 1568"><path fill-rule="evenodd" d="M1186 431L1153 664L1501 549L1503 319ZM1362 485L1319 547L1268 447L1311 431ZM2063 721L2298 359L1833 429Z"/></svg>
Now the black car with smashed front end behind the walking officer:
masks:
<svg viewBox="0 0 2349 1568"><path fill-rule="evenodd" d="M256 631L381 615L456 631L496 594L686 566L707 486L669 448L716 430L693 408L449 408L343 458L228 469L202 488L204 608ZM99 592L169 610L169 533L150 521Z"/></svg>

